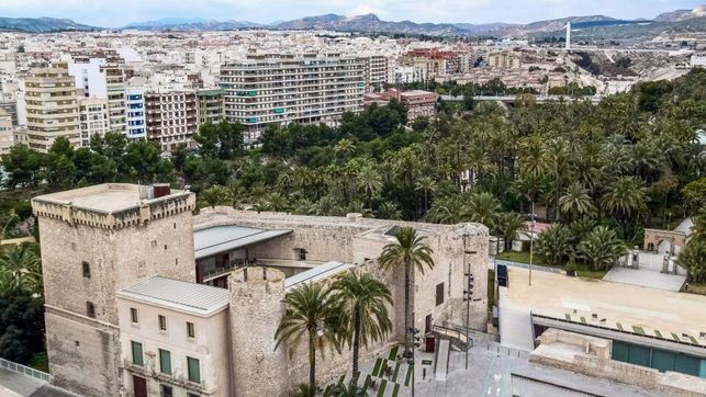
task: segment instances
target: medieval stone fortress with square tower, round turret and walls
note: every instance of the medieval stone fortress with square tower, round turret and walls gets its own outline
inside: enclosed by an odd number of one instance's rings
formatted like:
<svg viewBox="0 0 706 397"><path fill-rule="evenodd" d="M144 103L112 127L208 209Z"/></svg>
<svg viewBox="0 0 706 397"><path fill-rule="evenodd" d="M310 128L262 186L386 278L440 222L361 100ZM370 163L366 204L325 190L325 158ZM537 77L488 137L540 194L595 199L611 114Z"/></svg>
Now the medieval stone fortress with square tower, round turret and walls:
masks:
<svg viewBox="0 0 706 397"><path fill-rule="evenodd" d="M436 265L412 277L414 327L488 324L488 229L226 207L192 216L194 195L166 185L102 184L37 196L54 383L86 396L285 396L306 379L304 349L274 349L284 294L358 268L391 290L393 329L362 351L404 338L404 284L382 248L413 226ZM195 241L195 242L194 242ZM464 302L468 274L478 281ZM348 368L321 361L318 377Z"/></svg>

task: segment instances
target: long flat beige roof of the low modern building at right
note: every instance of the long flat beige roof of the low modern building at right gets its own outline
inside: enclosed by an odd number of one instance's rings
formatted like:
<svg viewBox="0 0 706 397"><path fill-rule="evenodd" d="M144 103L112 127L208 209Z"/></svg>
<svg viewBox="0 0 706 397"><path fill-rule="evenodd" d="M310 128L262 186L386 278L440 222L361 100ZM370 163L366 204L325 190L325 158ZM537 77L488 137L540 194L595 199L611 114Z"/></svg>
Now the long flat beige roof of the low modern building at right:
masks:
<svg viewBox="0 0 706 397"><path fill-rule="evenodd" d="M559 319L583 316L589 322L596 314L607 324L665 336L686 333L698 339L706 332L706 296L543 271L534 271L528 286L526 269L507 271L509 300L535 314Z"/></svg>

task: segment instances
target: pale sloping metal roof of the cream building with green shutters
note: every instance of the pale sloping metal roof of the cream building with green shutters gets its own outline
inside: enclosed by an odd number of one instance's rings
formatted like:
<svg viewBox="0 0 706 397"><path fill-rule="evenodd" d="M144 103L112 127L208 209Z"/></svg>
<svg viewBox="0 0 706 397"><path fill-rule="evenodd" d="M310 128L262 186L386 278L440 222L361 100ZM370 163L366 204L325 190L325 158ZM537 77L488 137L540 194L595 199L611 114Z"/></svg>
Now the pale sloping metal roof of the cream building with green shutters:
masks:
<svg viewBox="0 0 706 397"><path fill-rule="evenodd" d="M228 290L159 275L126 286L117 296L200 316L228 307Z"/></svg>

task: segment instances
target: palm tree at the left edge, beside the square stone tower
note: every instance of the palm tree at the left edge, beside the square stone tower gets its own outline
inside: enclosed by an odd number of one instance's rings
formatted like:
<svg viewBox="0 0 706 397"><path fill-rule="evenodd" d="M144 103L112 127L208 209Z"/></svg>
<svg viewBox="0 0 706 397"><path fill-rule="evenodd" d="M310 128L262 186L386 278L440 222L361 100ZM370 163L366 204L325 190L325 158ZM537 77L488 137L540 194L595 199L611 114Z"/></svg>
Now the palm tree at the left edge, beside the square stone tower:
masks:
<svg viewBox="0 0 706 397"><path fill-rule="evenodd" d="M41 294L44 291L42 283L42 260L36 247L22 243L10 248L0 257L0 273L4 274L3 288L24 290Z"/></svg>

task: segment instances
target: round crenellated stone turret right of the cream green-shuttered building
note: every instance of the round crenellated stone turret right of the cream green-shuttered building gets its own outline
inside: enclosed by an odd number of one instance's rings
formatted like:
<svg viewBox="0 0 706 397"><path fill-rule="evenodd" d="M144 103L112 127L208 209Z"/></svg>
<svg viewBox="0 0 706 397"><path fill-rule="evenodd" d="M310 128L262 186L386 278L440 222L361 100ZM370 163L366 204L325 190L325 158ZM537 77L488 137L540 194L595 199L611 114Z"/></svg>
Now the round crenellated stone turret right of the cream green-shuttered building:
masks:
<svg viewBox="0 0 706 397"><path fill-rule="evenodd" d="M287 396L284 347L274 349L274 332L284 314L284 273L244 268L228 277L234 396Z"/></svg>

